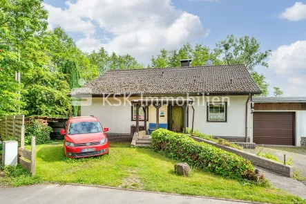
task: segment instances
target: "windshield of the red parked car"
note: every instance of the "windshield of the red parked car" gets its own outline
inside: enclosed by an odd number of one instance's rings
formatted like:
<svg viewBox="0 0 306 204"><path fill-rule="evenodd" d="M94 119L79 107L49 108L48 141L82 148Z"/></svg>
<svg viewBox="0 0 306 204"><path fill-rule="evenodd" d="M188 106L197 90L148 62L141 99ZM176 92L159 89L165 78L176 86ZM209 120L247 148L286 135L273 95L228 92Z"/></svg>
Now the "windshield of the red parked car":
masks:
<svg viewBox="0 0 306 204"><path fill-rule="evenodd" d="M82 134L82 133L101 133L102 127L99 122L75 122L70 123L68 127L68 134Z"/></svg>

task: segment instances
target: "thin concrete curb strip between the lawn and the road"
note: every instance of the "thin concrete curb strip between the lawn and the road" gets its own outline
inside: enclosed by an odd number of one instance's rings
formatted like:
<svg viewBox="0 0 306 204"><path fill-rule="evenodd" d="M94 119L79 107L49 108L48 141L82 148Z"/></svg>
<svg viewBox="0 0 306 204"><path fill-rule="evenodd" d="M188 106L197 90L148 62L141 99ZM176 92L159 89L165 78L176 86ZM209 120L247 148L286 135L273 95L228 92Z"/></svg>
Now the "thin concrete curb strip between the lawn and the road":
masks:
<svg viewBox="0 0 306 204"><path fill-rule="evenodd" d="M58 183L54 183L54 184L58 184ZM65 184L58 184L58 185L75 185L75 186L79 185L79 186L86 186L86 187L100 187L100 188L106 188L106 189L119 189L119 190L130 191L130 192L143 192L143 193L149 193L149 194L162 194L162 195L169 195L169 196L206 198L206 199L213 199L213 200L217 200L217 201L233 201L233 202L238 202L238 203L269 204L269 203L258 203L258 202L254 202L254 201L242 201L242 200L215 198L215 197L207 197L207 196L189 196L189 195L183 195L183 194L169 194L169 193L164 193L164 192L149 192L149 191L140 190L140 189L127 189L127 188L111 187L111 186L104 186L104 185L88 185L88 184L78 184L78 183L65 183Z"/></svg>

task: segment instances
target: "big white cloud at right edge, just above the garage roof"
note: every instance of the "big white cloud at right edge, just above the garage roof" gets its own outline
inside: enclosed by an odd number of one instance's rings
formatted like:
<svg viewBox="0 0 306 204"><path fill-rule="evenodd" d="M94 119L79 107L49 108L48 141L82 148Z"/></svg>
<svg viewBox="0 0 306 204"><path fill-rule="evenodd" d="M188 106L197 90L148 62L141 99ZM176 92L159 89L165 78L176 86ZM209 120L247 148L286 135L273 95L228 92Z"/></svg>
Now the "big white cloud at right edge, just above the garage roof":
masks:
<svg viewBox="0 0 306 204"><path fill-rule="evenodd" d="M268 63L271 85L283 87L285 96L306 96L306 41L279 46Z"/></svg>

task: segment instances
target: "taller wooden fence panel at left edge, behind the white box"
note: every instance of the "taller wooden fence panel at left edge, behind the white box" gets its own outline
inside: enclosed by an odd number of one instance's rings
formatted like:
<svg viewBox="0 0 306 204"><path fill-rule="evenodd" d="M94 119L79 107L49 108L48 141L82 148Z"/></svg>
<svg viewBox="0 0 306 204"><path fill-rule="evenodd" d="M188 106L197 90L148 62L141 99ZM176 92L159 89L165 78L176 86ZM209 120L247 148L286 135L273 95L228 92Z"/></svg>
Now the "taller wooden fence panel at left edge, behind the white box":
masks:
<svg viewBox="0 0 306 204"><path fill-rule="evenodd" d="M15 138L24 146L24 131L24 115L10 115L0 119L0 140Z"/></svg>

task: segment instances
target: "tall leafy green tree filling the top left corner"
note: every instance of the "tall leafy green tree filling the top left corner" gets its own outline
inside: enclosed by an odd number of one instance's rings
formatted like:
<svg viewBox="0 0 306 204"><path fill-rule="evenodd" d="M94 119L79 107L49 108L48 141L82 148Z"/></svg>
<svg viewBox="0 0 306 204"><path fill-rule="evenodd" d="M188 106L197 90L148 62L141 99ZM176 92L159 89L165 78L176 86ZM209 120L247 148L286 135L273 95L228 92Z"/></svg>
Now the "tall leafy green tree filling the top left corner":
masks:
<svg viewBox="0 0 306 204"><path fill-rule="evenodd" d="M22 76L48 59L39 45L47 17L42 1L0 0L0 116L16 114L24 104L16 100L23 86L15 71Z"/></svg>

